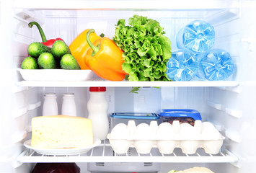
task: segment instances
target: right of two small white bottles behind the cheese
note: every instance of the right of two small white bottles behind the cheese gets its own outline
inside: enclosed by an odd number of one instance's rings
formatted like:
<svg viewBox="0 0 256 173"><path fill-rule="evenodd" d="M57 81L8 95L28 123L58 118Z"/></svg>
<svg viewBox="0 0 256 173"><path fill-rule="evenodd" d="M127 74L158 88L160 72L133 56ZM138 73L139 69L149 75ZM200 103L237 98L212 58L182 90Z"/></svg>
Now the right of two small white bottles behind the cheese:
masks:
<svg viewBox="0 0 256 173"><path fill-rule="evenodd" d="M74 93L64 93L61 114L76 116L76 102Z"/></svg>

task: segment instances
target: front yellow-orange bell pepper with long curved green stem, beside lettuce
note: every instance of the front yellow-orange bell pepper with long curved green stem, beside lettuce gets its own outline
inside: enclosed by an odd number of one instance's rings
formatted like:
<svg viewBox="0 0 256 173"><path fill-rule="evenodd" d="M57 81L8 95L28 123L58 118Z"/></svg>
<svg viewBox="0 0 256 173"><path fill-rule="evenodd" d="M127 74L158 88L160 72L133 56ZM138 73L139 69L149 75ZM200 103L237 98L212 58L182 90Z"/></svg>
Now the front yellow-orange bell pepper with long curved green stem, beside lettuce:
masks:
<svg viewBox="0 0 256 173"><path fill-rule="evenodd" d="M87 43L91 48L87 51L86 65L103 79L122 81L126 74L122 69L123 50L107 37L95 40L92 44L89 35L93 32L93 29L87 32Z"/></svg>

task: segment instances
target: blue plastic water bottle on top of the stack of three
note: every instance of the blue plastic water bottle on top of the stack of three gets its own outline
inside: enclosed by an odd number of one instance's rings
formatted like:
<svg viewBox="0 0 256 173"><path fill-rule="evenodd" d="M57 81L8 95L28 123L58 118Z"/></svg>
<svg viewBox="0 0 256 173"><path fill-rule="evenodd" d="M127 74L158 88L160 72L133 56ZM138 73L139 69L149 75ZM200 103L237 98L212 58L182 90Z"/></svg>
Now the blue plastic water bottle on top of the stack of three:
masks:
<svg viewBox="0 0 256 173"><path fill-rule="evenodd" d="M215 31L211 24L195 20L183 27L177 34L177 48L195 53L204 53L213 47Z"/></svg>

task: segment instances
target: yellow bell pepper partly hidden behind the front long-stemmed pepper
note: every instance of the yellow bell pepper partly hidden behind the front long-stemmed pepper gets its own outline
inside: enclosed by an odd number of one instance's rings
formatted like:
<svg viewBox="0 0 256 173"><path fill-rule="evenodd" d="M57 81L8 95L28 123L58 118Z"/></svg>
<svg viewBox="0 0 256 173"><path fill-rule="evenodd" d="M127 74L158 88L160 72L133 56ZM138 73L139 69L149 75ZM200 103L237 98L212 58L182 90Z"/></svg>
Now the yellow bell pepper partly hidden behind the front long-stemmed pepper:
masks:
<svg viewBox="0 0 256 173"><path fill-rule="evenodd" d="M84 63L84 58L87 55L87 50L89 50L89 44L87 43L87 40L85 39L87 36L87 32L90 29L84 30L81 32L69 45L69 49L71 50L72 56L76 58L76 61L79 63L79 66L81 67L81 70L89 69L87 65ZM92 33L92 35L89 35L89 39L94 42L95 40L100 39L101 37L98 36L96 33Z"/></svg>

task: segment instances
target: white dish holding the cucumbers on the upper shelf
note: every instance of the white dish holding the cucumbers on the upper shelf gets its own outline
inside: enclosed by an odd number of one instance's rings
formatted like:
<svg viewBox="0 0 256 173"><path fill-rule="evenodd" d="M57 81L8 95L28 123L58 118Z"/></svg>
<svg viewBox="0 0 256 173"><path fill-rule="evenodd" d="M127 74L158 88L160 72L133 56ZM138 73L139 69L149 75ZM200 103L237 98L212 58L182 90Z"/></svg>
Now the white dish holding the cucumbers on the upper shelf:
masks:
<svg viewBox="0 0 256 173"><path fill-rule="evenodd" d="M18 68L18 71L26 81L88 81L96 75L91 70Z"/></svg>

